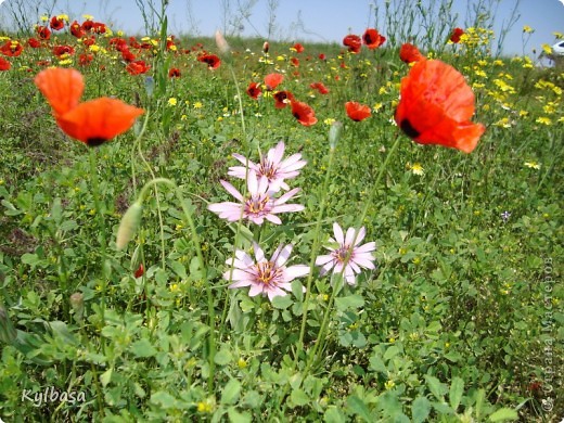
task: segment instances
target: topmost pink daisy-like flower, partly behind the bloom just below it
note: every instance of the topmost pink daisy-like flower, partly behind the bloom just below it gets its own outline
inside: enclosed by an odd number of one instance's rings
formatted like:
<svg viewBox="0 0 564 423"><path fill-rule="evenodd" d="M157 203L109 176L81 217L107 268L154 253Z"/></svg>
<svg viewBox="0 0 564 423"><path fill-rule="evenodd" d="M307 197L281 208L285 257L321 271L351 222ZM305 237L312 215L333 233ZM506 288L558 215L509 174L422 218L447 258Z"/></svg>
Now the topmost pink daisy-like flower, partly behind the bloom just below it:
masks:
<svg viewBox="0 0 564 423"><path fill-rule="evenodd" d="M299 175L299 169L306 166L306 161L302 161L302 154L296 153L290 157L282 159L284 156L284 142L280 141L275 148L270 149L266 156L260 155L260 162L254 163L248 161L241 154L233 154L239 162L248 166L249 169L256 171L257 177L265 176L268 179L269 190L278 192L280 189L290 190L284 179L295 178ZM232 166L229 168L228 175L235 178L245 179L245 166Z"/></svg>

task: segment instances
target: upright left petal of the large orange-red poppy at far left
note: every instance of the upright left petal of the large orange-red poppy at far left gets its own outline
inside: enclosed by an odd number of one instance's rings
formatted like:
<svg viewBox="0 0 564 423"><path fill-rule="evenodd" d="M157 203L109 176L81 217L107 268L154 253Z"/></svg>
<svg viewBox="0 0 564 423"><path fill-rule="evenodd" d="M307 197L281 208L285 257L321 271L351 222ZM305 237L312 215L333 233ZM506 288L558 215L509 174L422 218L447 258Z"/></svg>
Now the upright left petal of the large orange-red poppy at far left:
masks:
<svg viewBox="0 0 564 423"><path fill-rule="evenodd" d="M61 67L41 70L35 78L35 85L47 98L55 116L75 108L85 90L82 75L78 70Z"/></svg>

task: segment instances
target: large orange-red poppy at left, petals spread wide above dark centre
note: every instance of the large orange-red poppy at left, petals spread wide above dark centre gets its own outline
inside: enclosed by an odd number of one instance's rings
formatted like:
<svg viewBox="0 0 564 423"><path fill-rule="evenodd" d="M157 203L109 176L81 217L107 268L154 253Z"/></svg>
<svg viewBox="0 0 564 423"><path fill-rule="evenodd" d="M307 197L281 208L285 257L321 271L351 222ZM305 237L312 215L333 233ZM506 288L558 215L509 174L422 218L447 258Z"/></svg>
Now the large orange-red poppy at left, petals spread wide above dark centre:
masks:
<svg viewBox="0 0 564 423"><path fill-rule="evenodd" d="M41 70L35 84L53 108L59 127L89 146L100 145L127 131L143 113L117 99L101 98L80 103L85 84L76 69L52 67Z"/></svg>

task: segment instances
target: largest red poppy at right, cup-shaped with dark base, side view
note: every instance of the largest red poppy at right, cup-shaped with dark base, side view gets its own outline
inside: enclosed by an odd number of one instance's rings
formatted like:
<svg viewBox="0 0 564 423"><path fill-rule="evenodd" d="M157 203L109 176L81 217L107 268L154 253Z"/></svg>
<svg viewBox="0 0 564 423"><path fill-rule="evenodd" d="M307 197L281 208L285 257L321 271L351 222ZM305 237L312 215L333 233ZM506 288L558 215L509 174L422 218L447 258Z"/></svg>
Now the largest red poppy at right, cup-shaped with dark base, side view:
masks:
<svg viewBox="0 0 564 423"><path fill-rule="evenodd" d="M401 80L395 119L413 141L472 152L486 128L473 124L474 93L462 74L438 60L420 61Z"/></svg>

